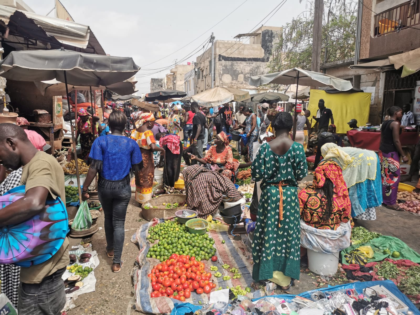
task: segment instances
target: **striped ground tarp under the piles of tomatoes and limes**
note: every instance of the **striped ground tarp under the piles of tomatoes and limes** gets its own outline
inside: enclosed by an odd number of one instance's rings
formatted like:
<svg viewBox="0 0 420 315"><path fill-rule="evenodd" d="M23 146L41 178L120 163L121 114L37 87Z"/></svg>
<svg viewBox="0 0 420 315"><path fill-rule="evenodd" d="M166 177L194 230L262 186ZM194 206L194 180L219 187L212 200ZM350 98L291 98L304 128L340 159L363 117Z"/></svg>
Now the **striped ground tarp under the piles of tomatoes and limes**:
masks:
<svg viewBox="0 0 420 315"><path fill-rule="evenodd" d="M133 304L136 310L144 313L163 314L170 313L173 310L174 303L179 303L176 299L170 299L168 297L155 297L151 298L152 286L150 278L147 274L150 273L154 265L159 263L159 260L153 258L147 258L147 252L150 248L150 243L146 237L148 230L151 226L163 222L163 220L154 219L148 224L140 226L136 233L132 236L131 241L139 245L139 255L136 261L139 265L139 269L134 268L133 270L133 281L134 281L134 299ZM210 266L217 266L218 272L222 273L220 278L212 277L213 282L216 284L216 288L223 287L234 287L243 286L249 287L253 282L252 279L252 253L248 252L245 244L242 241L232 240L227 232L209 231L207 232L210 237L214 239L214 246L216 248L216 254L218 261L212 262L211 260L202 260L205 265L205 270L210 272ZM225 244L222 244L222 240ZM228 264L232 267L238 268L241 273L241 278L230 280L223 280L223 276L232 276L231 272L222 268L223 264ZM259 290L247 294L249 298L257 298L264 296L264 290ZM194 305L206 304L209 296L207 294L197 294L191 292L191 298L186 302Z"/></svg>

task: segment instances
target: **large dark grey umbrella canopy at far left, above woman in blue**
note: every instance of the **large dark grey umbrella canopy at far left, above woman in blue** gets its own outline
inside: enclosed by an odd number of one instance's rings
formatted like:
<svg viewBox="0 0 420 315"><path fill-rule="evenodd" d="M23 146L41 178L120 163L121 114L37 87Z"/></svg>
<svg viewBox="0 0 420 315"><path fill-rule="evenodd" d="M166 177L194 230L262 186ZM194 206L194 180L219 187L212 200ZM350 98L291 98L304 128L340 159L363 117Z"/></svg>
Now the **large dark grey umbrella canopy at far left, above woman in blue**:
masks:
<svg viewBox="0 0 420 315"><path fill-rule="evenodd" d="M0 76L15 81L56 79L75 86L108 86L130 79L139 71L130 57L112 57L71 50L13 51L0 61Z"/></svg>

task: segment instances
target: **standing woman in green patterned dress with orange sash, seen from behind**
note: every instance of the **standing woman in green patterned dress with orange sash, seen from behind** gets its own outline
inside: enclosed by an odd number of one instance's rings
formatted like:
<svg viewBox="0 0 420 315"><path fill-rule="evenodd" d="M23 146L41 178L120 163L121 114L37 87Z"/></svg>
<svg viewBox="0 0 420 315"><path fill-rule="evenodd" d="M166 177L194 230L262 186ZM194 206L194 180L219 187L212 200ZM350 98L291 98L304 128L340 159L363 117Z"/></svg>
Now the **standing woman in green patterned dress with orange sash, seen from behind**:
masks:
<svg viewBox="0 0 420 315"><path fill-rule="evenodd" d="M291 115L278 113L271 126L276 139L262 144L251 169L252 179L261 181L252 278L272 281L288 291L300 273L297 182L307 175L307 163L302 144L289 138Z"/></svg>

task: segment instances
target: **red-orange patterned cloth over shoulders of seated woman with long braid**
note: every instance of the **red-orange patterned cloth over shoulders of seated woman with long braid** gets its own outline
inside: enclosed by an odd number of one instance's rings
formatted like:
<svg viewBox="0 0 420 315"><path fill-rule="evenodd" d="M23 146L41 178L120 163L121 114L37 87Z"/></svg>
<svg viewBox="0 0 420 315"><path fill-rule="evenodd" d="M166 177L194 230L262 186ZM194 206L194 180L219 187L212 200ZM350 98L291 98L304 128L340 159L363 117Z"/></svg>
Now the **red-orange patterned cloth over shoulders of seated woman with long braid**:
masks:
<svg viewBox="0 0 420 315"><path fill-rule="evenodd" d="M340 166L332 160L322 160L314 171L314 188L321 188L325 184L325 179L329 178L334 184L334 192L340 196L348 196L346 182Z"/></svg>

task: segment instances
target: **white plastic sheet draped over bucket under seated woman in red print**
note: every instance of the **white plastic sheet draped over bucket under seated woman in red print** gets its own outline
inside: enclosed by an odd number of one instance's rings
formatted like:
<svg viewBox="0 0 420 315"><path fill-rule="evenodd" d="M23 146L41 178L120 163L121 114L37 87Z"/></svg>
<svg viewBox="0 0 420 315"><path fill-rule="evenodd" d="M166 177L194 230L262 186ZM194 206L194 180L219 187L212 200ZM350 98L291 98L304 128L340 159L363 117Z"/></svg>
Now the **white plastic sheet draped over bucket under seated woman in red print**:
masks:
<svg viewBox="0 0 420 315"><path fill-rule="evenodd" d="M334 230L322 230L308 226L300 220L300 245L314 252L333 254L350 246L352 226L350 222L340 223Z"/></svg>

